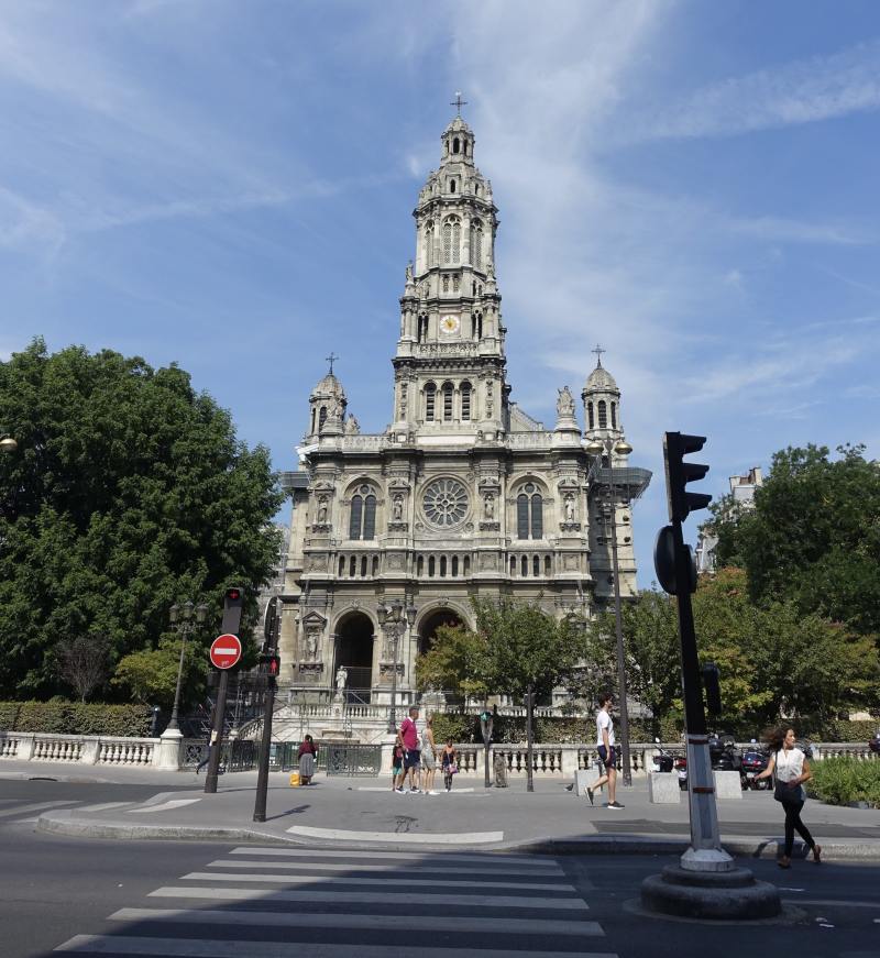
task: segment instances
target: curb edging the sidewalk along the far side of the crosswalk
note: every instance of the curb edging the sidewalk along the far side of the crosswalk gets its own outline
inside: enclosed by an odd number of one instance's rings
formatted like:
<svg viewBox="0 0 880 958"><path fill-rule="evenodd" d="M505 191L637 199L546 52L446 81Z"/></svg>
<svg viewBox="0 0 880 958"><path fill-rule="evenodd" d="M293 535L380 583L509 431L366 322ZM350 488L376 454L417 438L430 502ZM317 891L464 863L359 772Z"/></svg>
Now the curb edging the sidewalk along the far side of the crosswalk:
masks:
<svg viewBox="0 0 880 958"><path fill-rule="evenodd" d="M285 845L307 846L307 838L293 834L266 832L256 827L223 827L196 825L143 825L138 823L87 822L72 817L74 810L45 812L36 822L36 830L50 835L67 835L75 838L116 838L120 840L154 841L273 841ZM338 848L375 848L375 843L356 838L336 839L323 843ZM735 858L774 859L782 847L781 838L734 837L722 843ZM485 851L516 851L525 855L681 855L688 847L686 838L644 837L630 835L596 835L584 838L539 838L522 841L499 841L481 846ZM461 849L449 844L424 843L418 848L430 852L454 852ZM384 850L414 851L416 846L395 841L395 833L388 833ZM794 848L795 857L805 856L802 843ZM822 845L823 859L829 861L880 861L880 843L832 843Z"/></svg>

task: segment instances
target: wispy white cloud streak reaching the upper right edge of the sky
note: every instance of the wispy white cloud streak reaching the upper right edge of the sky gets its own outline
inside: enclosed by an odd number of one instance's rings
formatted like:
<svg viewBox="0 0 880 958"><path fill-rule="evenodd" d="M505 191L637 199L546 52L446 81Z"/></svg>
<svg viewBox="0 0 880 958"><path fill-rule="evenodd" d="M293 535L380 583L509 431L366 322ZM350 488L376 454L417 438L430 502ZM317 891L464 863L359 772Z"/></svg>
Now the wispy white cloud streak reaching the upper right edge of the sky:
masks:
<svg viewBox="0 0 880 958"><path fill-rule="evenodd" d="M732 77L619 131L615 142L734 136L880 108L880 42Z"/></svg>

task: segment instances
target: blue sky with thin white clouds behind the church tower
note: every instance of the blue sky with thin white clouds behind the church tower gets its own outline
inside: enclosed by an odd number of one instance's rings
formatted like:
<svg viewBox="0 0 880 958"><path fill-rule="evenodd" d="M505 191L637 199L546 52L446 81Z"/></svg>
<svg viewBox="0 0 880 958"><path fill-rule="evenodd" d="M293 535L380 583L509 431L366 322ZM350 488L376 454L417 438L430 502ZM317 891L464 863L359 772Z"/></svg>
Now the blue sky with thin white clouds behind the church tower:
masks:
<svg viewBox="0 0 880 958"><path fill-rule="evenodd" d="M664 430L710 437L715 494L789 444L880 454L870 0L0 0L0 355L176 361L290 469L334 350L382 431L459 89L513 398L552 422L607 350L641 585Z"/></svg>

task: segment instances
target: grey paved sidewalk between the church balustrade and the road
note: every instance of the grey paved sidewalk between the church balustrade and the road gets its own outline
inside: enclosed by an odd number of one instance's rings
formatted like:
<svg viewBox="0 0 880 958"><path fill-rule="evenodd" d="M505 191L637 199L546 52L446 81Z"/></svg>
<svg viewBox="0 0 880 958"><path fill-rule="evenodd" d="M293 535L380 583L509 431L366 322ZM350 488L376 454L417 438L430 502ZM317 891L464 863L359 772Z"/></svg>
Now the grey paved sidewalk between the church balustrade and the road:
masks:
<svg viewBox="0 0 880 958"><path fill-rule="evenodd" d="M10 766L13 763L10 763ZM33 778L0 768L3 778ZM41 778L63 778L41 764ZM674 854L689 841L685 795L678 805L651 805L646 780L618 788L625 808L603 806L565 790L562 779L525 779L508 789L484 789L483 780L457 777L453 791L437 795L398 794L384 779L315 778L307 788L290 788L287 773L271 773L265 823L253 821L256 772L222 775L218 792L206 795L204 778L193 772L155 773L101 770L101 781L156 785L142 803L106 803L100 810L47 812L40 830L114 838L256 840L343 844L383 849L461 850L481 848L548 854ZM109 773L109 775L108 775ZM111 777L111 778L110 778ZM78 777L70 775L70 781ZM92 779L94 781L94 779ZM95 808L95 806L90 806ZM770 792L747 792L741 801L718 803L722 841L735 855L773 857L782 841L783 815ZM880 812L844 808L809 801L803 818L828 859L880 861Z"/></svg>

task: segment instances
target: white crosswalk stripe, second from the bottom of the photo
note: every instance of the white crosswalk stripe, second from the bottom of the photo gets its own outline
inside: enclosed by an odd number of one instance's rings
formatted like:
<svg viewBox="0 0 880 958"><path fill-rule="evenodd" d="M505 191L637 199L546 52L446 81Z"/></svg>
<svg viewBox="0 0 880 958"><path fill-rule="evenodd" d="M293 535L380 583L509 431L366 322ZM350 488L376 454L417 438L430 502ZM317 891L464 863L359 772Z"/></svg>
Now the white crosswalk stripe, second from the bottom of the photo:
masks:
<svg viewBox="0 0 880 958"><path fill-rule="evenodd" d="M356 928L360 931L425 931L425 915L359 915L344 912L223 912L198 909L120 909L109 916L111 922L150 922L187 925L254 925L284 928ZM598 922L560 918L508 918L457 915L457 934L493 935L564 935L600 937L605 933ZM311 946L308 946L311 947ZM396 948L393 949L396 951Z"/></svg>

